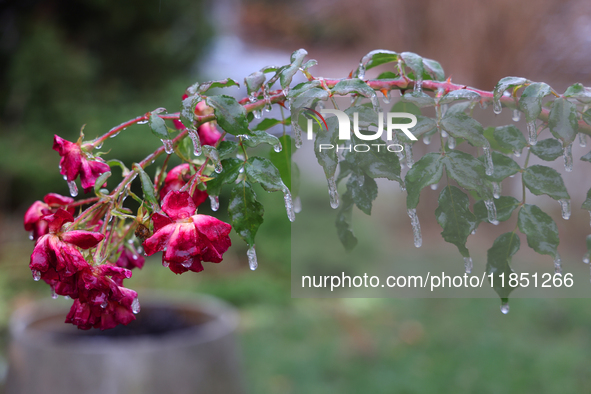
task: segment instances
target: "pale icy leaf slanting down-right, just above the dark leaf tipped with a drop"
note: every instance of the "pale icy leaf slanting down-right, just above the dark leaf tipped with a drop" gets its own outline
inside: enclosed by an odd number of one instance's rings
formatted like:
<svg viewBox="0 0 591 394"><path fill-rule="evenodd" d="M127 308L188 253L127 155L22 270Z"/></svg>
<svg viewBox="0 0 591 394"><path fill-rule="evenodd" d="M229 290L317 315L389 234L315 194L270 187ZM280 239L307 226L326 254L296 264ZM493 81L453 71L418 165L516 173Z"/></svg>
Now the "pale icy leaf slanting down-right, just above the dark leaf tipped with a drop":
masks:
<svg viewBox="0 0 591 394"><path fill-rule="evenodd" d="M446 153L442 162L445 164L448 176L458 182L461 187L476 191L485 200L492 198L491 186L485 180L484 165L479 160L467 153L452 150Z"/></svg>

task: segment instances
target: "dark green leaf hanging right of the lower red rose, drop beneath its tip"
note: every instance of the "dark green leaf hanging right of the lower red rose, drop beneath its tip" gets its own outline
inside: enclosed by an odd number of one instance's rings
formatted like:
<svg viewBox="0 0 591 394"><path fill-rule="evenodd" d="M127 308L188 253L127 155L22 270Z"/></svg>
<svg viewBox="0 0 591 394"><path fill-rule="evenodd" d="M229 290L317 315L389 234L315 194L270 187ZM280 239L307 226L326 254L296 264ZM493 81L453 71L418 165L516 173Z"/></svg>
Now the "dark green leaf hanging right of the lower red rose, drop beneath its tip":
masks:
<svg viewBox="0 0 591 394"><path fill-rule="evenodd" d="M263 223L263 205L257 201L256 194L248 182L240 182L230 194L228 215L236 233L248 244L254 245L254 238Z"/></svg>

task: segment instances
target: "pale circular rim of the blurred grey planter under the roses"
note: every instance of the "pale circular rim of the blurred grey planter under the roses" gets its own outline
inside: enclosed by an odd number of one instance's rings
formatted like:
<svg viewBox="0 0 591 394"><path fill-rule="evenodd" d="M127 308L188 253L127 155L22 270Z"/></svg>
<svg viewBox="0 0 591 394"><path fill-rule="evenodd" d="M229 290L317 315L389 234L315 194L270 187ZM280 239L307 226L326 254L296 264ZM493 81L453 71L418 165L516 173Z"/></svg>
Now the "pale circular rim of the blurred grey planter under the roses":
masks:
<svg viewBox="0 0 591 394"><path fill-rule="evenodd" d="M74 341L56 341L55 331L35 328L35 324L42 325L43 320L55 320L58 317L63 322L71 301L66 303L45 299L27 304L13 313L9 324L10 336L15 343L28 348L75 354L104 354L132 350L158 352L213 342L232 334L238 326L237 311L226 302L208 295L143 291L140 294L140 302L142 307L169 308L179 312L195 313L206 316L207 320L193 327L158 337L139 335L101 337L98 340L96 337L89 337L76 338Z"/></svg>

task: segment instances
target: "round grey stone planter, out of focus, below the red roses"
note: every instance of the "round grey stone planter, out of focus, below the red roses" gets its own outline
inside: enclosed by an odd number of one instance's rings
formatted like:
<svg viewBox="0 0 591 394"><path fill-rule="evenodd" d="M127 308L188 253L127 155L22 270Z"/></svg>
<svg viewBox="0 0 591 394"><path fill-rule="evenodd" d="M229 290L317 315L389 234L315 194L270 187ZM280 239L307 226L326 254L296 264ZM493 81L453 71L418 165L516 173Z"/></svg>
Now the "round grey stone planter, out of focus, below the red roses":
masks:
<svg viewBox="0 0 591 394"><path fill-rule="evenodd" d="M136 321L104 332L64 324L65 302L18 310L7 394L244 392L232 308L209 297L141 301Z"/></svg>

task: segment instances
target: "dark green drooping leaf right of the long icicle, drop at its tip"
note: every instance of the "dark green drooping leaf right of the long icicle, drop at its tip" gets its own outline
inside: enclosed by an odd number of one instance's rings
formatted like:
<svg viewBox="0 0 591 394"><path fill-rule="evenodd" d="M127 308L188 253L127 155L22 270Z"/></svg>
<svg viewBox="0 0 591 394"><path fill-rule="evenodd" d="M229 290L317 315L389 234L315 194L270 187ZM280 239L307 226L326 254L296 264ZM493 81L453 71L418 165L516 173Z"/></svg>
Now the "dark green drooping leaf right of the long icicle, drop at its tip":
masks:
<svg viewBox="0 0 591 394"><path fill-rule="evenodd" d="M447 185L439 194L439 206L435 210L437 223L443 231L445 242L458 247L460 254L470 257L466 241L470 232L476 227L476 217L470 212L468 196L455 186Z"/></svg>

